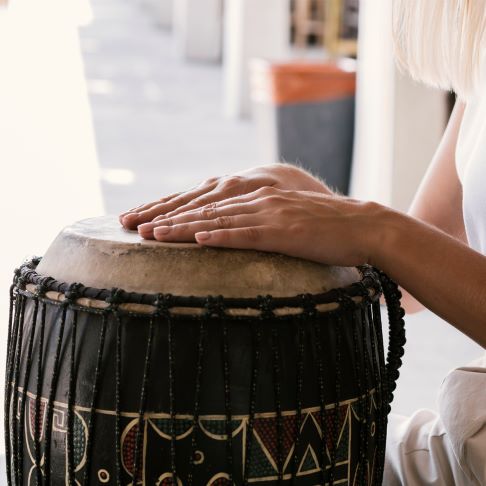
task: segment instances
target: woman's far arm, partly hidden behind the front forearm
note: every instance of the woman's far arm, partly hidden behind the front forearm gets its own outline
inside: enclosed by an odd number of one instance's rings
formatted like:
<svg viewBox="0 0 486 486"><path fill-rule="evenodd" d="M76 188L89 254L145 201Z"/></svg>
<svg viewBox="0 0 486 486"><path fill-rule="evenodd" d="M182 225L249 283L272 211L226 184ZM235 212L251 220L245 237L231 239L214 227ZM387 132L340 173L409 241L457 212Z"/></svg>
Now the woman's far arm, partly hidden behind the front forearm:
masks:
<svg viewBox="0 0 486 486"><path fill-rule="evenodd" d="M442 141L415 195L408 214L467 244L462 215L462 186L456 171L456 144L464 104L456 103ZM407 313L424 306L402 288Z"/></svg>

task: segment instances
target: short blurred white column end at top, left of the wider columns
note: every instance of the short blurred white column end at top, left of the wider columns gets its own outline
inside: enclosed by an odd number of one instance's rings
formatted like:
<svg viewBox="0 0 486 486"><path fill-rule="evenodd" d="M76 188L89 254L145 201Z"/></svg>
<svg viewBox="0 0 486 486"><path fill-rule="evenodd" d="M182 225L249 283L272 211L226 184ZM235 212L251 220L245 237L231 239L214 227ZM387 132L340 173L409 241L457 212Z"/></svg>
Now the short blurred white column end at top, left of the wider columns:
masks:
<svg viewBox="0 0 486 486"><path fill-rule="evenodd" d="M175 0L174 38L185 59L221 59L223 0Z"/></svg>

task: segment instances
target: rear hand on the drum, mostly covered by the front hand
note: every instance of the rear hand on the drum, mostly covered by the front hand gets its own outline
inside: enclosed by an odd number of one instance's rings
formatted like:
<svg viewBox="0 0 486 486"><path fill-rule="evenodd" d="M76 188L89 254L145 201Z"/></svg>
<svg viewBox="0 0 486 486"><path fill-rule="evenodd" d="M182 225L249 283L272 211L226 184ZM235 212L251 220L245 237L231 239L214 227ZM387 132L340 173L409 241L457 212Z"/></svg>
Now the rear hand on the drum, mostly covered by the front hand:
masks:
<svg viewBox="0 0 486 486"><path fill-rule="evenodd" d="M245 170L232 176L213 177L189 191L143 204L121 214L120 223L127 229L136 229L144 223L176 216L213 202L248 194L261 187L333 194L324 182L296 166L281 163L271 164ZM142 235L151 236L146 232Z"/></svg>

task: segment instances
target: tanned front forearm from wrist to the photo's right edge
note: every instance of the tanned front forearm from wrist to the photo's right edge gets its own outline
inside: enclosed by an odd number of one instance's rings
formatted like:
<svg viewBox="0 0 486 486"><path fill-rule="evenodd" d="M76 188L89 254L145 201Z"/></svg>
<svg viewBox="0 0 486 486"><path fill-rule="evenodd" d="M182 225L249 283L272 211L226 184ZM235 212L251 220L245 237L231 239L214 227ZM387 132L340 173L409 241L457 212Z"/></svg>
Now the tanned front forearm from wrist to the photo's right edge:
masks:
<svg viewBox="0 0 486 486"><path fill-rule="evenodd" d="M425 307L486 347L486 257L417 219L374 208L369 260Z"/></svg>

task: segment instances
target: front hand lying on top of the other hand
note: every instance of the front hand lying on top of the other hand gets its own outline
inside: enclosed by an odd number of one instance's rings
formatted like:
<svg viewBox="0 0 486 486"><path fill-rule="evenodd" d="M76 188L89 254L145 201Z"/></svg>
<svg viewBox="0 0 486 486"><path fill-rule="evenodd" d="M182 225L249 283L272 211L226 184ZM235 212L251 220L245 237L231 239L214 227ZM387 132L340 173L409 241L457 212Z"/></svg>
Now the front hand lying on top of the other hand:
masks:
<svg viewBox="0 0 486 486"><path fill-rule="evenodd" d="M354 266L370 259L374 217L381 209L350 198L264 187L146 223L139 231L159 241L197 241Z"/></svg>

